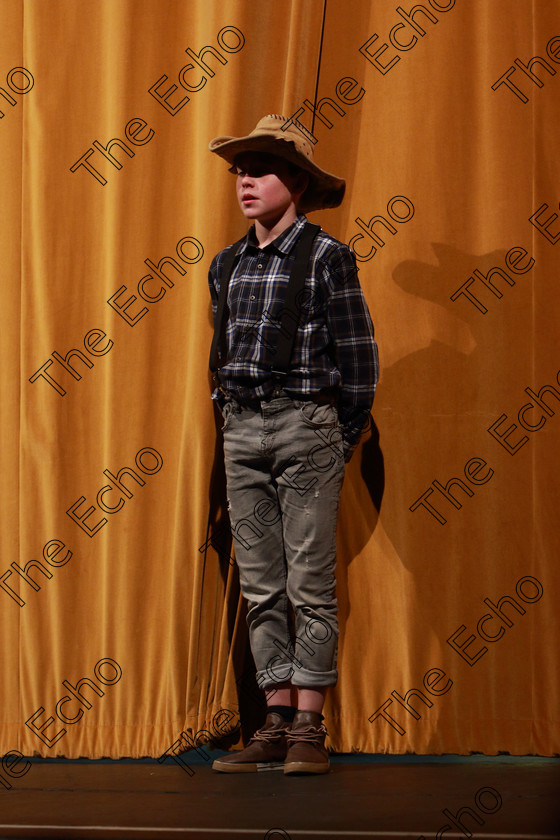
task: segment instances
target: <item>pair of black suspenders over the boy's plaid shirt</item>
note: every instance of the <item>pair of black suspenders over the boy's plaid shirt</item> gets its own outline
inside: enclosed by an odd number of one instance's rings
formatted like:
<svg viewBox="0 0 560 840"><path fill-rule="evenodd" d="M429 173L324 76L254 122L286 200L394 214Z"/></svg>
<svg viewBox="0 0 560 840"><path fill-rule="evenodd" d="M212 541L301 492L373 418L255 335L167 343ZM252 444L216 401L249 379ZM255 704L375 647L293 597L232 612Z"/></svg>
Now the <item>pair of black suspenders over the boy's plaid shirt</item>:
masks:
<svg viewBox="0 0 560 840"><path fill-rule="evenodd" d="M280 338L276 347L274 364L272 366L272 373L277 383L286 377L290 368L290 361L296 339L296 331L300 321L298 313L298 295L300 295L303 291L305 278L307 276L307 266L311 256L311 249L313 247L313 240L320 230L321 228L319 225L312 225L307 222L296 244L294 264L290 273L284 306L280 317ZM214 338L212 340L212 347L210 350L210 370L214 373L215 378L217 378L217 371L220 367L219 363L221 362L223 364L225 362L224 322L227 291L230 277L233 273L236 251L244 239L245 237L229 248L225 256L221 272Z"/></svg>

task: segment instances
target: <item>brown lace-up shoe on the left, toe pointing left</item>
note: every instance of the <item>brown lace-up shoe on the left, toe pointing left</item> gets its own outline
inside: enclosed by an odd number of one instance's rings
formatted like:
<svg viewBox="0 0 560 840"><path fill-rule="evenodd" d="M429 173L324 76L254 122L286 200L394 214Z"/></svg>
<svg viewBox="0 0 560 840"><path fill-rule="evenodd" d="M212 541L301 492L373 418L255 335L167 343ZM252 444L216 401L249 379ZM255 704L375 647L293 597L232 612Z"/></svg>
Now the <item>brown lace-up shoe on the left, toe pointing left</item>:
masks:
<svg viewBox="0 0 560 840"><path fill-rule="evenodd" d="M259 770L281 770L284 766L291 727L282 715L268 712L264 725L257 729L241 752L217 758L212 770L221 773L257 773Z"/></svg>

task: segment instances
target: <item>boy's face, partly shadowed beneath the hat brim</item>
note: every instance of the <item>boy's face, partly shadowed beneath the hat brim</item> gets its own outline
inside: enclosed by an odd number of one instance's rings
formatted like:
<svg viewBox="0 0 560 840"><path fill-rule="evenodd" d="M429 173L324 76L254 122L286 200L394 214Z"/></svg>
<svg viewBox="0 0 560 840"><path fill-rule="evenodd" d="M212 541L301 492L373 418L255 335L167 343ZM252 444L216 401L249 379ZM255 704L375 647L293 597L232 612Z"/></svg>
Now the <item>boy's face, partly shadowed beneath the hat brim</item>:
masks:
<svg viewBox="0 0 560 840"><path fill-rule="evenodd" d="M304 173L292 175L282 158L264 152L242 152L235 159L237 200L247 219L275 222L297 202L307 186Z"/></svg>

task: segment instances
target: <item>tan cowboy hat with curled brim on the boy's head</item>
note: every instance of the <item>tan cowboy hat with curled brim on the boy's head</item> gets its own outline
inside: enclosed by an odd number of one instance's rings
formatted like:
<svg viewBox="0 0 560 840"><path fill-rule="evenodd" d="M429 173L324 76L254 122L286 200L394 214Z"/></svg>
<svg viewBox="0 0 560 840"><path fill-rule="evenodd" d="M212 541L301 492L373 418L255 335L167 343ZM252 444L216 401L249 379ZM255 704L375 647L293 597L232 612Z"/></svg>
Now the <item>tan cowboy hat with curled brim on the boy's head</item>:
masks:
<svg viewBox="0 0 560 840"><path fill-rule="evenodd" d="M299 211L309 213L311 210L338 207L344 197L346 182L313 162L313 146L307 139L308 134L305 126L297 120L268 114L246 137L214 137L208 148L230 164L241 152L267 152L284 158L309 175L309 186L300 199Z"/></svg>

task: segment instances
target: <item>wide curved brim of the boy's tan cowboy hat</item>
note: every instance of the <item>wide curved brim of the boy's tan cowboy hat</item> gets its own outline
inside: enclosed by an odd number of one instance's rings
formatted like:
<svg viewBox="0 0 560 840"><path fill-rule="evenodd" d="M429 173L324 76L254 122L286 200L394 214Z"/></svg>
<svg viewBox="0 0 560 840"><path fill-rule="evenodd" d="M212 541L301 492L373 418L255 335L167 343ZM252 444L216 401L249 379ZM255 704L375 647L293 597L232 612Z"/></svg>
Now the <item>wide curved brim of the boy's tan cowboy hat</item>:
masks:
<svg viewBox="0 0 560 840"><path fill-rule="evenodd" d="M312 210L322 210L338 207L344 198L346 181L337 178L330 172L325 172L305 155L298 152L292 140L279 140L270 134L253 134L249 137L215 137L208 148L211 152L222 157L229 164L241 152L266 152L283 158L299 166L309 175L309 186L303 193L298 210L310 213Z"/></svg>

